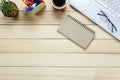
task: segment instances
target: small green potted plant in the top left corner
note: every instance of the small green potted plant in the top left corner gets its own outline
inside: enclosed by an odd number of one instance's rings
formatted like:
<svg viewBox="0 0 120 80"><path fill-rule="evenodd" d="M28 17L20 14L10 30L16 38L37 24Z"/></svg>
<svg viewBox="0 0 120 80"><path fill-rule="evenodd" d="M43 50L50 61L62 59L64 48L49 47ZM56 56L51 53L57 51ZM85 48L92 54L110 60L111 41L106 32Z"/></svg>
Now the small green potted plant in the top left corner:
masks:
<svg viewBox="0 0 120 80"><path fill-rule="evenodd" d="M17 17L19 14L17 5L10 0L1 0L0 10L2 10L3 15L7 17Z"/></svg>

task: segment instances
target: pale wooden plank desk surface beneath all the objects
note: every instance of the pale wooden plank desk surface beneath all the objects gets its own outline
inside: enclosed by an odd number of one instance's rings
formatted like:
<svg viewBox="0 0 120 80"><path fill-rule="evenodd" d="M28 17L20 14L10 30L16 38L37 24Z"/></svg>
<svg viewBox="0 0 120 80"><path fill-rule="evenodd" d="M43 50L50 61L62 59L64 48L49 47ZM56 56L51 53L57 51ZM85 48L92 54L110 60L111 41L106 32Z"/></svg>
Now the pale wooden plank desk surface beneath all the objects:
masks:
<svg viewBox="0 0 120 80"><path fill-rule="evenodd" d="M45 0L46 9L31 16L23 15L21 0L13 1L21 9L18 20L0 13L0 22L38 25L0 25L0 80L120 80L120 42L69 4L57 12ZM96 32L87 50L57 32L67 14Z"/></svg>

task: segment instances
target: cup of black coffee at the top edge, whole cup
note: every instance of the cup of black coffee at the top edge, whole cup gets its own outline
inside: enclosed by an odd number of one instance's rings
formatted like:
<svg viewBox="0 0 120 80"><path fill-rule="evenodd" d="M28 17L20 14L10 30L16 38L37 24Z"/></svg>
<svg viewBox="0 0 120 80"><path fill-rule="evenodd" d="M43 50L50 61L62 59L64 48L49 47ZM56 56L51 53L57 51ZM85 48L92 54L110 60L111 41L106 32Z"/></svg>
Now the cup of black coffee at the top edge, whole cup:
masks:
<svg viewBox="0 0 120 80"><path fill-rule="evenodd" d="M64 10L66 7L66 0L51 0L52 6L56 10Z"/></svg>

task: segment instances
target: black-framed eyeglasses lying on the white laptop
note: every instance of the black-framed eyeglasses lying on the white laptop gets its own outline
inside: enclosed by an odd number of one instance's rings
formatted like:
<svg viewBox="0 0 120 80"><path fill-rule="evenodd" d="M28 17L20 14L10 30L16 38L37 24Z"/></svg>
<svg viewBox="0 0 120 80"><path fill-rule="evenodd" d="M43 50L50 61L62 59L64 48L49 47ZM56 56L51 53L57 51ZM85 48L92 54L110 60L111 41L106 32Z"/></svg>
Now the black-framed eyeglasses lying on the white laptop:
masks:
<svg viewBox="0 0 120 80"><path fill-rule="evenodd" d="M100 10L100 13L98 13L98 15L100 16L100 19L101 19L102 21L104 21L105 23L107 23L107 28L108 28L112 33L117 32L116 26L111 22L111 20L108 18L108 16L107 16L102 10Z"/></svg>

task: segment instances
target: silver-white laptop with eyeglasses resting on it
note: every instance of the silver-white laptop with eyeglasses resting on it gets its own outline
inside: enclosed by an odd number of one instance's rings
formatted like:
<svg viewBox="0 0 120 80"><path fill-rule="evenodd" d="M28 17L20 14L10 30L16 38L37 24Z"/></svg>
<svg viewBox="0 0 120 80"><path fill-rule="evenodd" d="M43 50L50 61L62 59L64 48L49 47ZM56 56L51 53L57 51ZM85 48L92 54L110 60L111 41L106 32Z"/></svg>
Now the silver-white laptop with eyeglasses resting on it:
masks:
<svg viewBox="0 0 120 80"><path fill-rule="evenodd" d="M70 5L120 40L120 0L70 0Z"/></svg>

